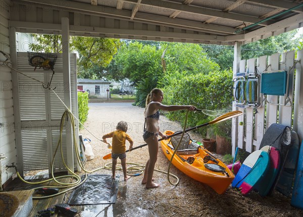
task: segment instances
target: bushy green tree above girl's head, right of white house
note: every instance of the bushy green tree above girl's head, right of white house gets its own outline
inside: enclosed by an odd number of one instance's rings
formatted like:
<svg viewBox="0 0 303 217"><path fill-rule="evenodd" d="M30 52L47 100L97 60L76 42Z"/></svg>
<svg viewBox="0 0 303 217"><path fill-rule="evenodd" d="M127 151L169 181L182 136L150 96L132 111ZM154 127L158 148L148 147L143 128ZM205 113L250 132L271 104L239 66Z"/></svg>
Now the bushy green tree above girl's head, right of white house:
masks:
<svg viewBox="0 0 303 217"><path fill-rule="evenodd" d="M135 103L143 107L147 93L157 86L162 75L161 55L162 51L156 46L138 41L124 43L107 67L106 74L117 81L129 78L136 83Z"/></svg>

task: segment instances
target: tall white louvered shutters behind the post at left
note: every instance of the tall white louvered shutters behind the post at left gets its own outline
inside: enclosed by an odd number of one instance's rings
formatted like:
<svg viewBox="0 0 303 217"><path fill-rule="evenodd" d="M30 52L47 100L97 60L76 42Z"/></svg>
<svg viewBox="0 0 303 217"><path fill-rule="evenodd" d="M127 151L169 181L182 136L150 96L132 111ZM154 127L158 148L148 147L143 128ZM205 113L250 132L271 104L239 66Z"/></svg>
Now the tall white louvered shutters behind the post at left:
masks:
<svg viewBox="0 0 303 217"><path fill-rule="evenodd" d="M36 69L28 64L27 53L18 53L18 70L44 83L51 82L56 94L64 102L65 86L63 82L62 54L56 54L57 61L53 71ZM24 171L51 169L53 156L60 135L60 120L66 110L65 106L52 90L44 89L42 84L19 74L19 101L21 120L22 157ZM71 54L71 99L72 111L78 117L78 100L76 89L76 55ZM46 86L45 86L46 87ZM76 138L78 141L78 123L76 122ZM67 162L66 132L62 136L63 156ZM76 159L76 155L74 152ZM77 166L75 160L74 167ZM61 157L61 149L55 157L55 172L67 171Z"/></svg>

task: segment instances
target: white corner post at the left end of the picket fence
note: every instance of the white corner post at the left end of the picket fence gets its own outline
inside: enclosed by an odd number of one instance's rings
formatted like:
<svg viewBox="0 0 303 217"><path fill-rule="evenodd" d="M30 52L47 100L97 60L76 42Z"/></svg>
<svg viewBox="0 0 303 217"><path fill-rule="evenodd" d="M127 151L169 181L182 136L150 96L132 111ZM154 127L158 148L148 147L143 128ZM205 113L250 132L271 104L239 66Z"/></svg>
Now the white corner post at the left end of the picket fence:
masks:
<svg viewBox="0 0 303 217"><path fill-rule="evenodd" d="M234 61L233 61L233 74L239 72L240 69L240 60L241 60L241 45L242 42L235 42L234 44ZM234 77L234 76L233 76ZM234 103L232 103L232 110L238 110ZM238 118L232 119L232 132L231 132L231 145L232 145L232 156L235 155L236 147L238 146Z"/></svg>

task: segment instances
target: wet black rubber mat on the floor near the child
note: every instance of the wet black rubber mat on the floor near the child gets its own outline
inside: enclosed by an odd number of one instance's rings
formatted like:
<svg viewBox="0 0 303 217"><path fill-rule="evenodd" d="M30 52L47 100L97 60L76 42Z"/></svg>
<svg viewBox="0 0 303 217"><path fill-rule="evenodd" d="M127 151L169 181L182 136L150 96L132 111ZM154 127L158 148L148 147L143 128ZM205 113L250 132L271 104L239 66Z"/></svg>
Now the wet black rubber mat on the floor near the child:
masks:
<svg viewBox="0 0 303 217"><path fill-rule="evenodd" d="M83 180L83 175L81 179ZM119 176L113 180L111 175L89 175L87 180L71 194L68 204L112 204L116 203Z"/></svg>

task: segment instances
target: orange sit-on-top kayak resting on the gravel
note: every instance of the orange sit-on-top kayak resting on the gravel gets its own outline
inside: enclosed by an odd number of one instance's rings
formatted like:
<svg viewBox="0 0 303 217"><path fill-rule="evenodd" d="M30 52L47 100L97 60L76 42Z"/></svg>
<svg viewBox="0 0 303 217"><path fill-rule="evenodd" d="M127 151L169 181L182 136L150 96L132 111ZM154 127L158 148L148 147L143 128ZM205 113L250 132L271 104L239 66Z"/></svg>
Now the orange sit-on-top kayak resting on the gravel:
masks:
<svg viewBox="0 0 303 217"><path fill-rule="evenodd" d="M167 136L173 133L172 131L165 132ZM172 143L172 138L174 137L161 141L163 153L169 160L171 160L174 153L174 147L177 146L176 143ZM189 144L186 149L183 149L184 145L181 150L179 149L180 146L178 147L172 164L192 179L207 184L218 194L223 194L235 178L233 173L221 160L203 146L192 140L188 141Z"/></svg>

